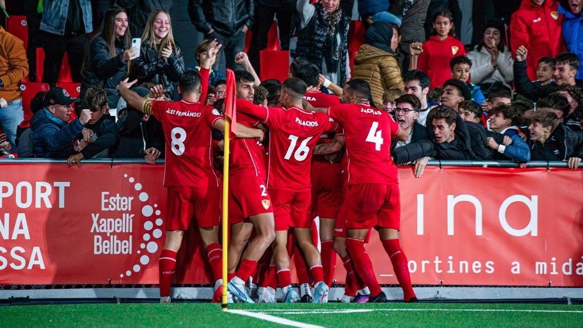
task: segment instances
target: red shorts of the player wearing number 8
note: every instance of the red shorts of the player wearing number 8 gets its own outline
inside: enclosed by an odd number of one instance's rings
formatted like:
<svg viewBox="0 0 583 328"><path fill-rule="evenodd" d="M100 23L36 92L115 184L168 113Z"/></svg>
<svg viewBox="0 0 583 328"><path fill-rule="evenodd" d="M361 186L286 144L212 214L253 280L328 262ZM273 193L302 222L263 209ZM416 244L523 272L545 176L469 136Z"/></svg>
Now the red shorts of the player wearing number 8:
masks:
<svg viewBox="0 0 583 328"><path fill-rule="evenodd" d="M200 228L219 225L219 200L216 187L168 187L166 230L187 230L193 217Z"/></svg>

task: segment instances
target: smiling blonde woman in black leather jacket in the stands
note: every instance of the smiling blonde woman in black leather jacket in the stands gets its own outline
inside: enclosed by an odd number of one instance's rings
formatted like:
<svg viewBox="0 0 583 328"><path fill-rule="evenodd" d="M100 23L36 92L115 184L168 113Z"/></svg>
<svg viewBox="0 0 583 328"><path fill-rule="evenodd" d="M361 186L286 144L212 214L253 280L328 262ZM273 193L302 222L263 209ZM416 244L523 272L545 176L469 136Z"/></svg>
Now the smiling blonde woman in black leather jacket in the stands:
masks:
<svg viewBox="0 0 583 328"><path fill-rule="evenodd" d="M178 100L175 83L182 73L184 58L172 35L170 14L164 9L155 9L147 19L140 55L134 62L131 79L138 79L139 83L161 84L170 99Z"/></svg>

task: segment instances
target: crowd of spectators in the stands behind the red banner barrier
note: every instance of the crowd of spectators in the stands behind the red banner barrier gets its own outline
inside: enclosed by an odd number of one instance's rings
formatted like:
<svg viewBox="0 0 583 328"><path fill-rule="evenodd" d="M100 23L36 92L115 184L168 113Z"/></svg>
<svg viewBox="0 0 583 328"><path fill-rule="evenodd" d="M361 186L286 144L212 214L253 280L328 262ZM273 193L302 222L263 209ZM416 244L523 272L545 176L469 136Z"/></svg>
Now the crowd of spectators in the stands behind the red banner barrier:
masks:
<svg viewBox="0 0 583 328"><path fill-rule="evenodd" d="M199 67L185 67L187 54L174 39L169 12L177 2L34 3L41 18L30 41L44 48L43 76L29 74L30 51L0 27L2 153L69 163L163 157L160 123L128 106L117 86L136 79L140 95L163 88L168 99L180 99L180 76ZM204 36L192 54L198 62L213 40L222 45L208 104L225 96L230 68L250 81L249 100L277 105L281 81L260 81L256 73L275 17L290 75L303 79L307 96L324 92L339 101L346 81L368 82L371 104L409 132L407 141L394 142L393 156L415 163L417 176L431 158L522 166L566 160L573 169L583 158L583 0L189 0L185 9ZM366 32L350 54L356 15ZM78 98L55 86L65 53L81 85ZM30 124L22 124L26 76L51 85L31 102Z"/></svg>

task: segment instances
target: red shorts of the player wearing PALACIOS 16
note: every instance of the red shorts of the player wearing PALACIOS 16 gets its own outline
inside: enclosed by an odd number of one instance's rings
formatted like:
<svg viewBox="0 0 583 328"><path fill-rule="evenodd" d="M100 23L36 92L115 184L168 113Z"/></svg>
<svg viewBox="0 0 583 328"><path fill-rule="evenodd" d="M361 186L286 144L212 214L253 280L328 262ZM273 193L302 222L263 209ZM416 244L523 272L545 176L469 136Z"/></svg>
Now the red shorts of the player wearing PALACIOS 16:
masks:
<svg viewBox="0 0 583 328"><path fill-rule="evenodd" d="M276 231L286 231L290 227L312 227L310 190L269 190L269 194L275 200L273 216L275 217Z"/></svg>

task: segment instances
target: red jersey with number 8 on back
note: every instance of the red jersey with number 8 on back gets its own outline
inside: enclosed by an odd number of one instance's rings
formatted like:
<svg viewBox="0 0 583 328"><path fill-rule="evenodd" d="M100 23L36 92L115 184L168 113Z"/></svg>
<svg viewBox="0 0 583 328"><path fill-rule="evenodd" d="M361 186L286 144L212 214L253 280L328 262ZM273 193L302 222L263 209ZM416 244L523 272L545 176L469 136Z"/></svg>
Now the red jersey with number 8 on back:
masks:
<svg viewBox="0 0 583 328"><path fill-rule="evenodd" d="M211 151L212 127L217 120L223 120L219 111L185 100L152 102L150 106L166 139L164 187L219 186Z"/></svg>

